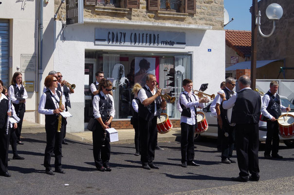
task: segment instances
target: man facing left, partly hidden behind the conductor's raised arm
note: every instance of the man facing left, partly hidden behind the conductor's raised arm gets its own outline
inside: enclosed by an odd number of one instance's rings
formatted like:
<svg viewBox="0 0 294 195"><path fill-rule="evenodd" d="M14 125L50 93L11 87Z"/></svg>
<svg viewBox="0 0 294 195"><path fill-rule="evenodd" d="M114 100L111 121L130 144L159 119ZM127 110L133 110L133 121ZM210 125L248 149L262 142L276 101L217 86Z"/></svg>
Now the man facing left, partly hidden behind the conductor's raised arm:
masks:
<svg viewBox="0 0 294 195"><path fill-rule="evenodd" d="M235 86L235 79L232 77L228 77L225 80L225 88L219 91L219 93L224 93L225 98L228 100L232 97L232 95L236 93L233 91ZM230 124L232 109L226 110L222 107L222 98L219 94L215 99L216 104L211 105L210 108L212 112L216 110L216 115L218 117L218 126L221 130L221 132L218 134L218 137L220 137L221 139L221 162L225 164L236 163L236 161L232 159L235 143L235 125L231 126Z"/></svg>

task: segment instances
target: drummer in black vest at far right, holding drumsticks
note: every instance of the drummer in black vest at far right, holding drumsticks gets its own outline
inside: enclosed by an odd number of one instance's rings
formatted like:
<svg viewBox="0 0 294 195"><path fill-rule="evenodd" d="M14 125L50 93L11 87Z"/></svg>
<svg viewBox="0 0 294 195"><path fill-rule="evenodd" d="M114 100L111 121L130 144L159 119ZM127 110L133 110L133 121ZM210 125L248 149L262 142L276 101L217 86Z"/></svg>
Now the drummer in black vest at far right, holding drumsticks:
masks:
<svg viewBox="0 0 294 195"><path fill-rule="evenodd" d="M279 148L279 126L277 123L278 117L281 116L282 112L290 111L290 108L286 108L281 104L280 96L276 93L278 89L278 83L276 81L272 81L270 83L270 90L264 95L262 98L263 108L261 110L262 114L268 118L266 124L266 140L265 140L265 151L264 158L270 159L271 151L273 158L283 158L283 156L279 156L278 148ZM272 145L273 141L273 145Z"/></svg>

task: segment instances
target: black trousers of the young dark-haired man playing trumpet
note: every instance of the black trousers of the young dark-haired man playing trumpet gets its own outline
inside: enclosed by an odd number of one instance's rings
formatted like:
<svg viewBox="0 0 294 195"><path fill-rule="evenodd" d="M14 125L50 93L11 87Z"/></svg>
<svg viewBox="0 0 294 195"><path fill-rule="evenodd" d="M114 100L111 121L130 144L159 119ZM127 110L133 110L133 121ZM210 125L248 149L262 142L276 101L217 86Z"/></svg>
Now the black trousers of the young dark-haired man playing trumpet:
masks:
<svg viewBox="0 0 294 195"><path fill-rule="evenodd" d="M187 123L181 123L181 154L182 163L192 162L194 160L194 132L196 124L189 125Z"/></svg>

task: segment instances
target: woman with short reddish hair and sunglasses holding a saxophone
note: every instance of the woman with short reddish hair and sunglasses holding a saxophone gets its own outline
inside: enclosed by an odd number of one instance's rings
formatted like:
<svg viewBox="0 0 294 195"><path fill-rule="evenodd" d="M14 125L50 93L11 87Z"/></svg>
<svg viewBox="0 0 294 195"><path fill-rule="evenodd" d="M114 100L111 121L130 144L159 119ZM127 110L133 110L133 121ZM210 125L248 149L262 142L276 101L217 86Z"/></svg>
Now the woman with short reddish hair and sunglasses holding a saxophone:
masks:
<svg viewBox="0 0 294 195"><path fill-rule="evenodd" d="M46 149L44 155L44 167L46 174L55 175L51 170L51 153L55 154L55 172L65 174L61 169L61 156L62 156L62 139L65 120L62 117L60 132L58 129L58 115L65 110L65 97L60 96L60 92L55 90L58 86L58 78L55 75L48 75L44 82L48 90L43 93L40 98L38 112L45 115L45 130L46 130ZM59 107L60 98L62 98L61 108Z"/></svg>

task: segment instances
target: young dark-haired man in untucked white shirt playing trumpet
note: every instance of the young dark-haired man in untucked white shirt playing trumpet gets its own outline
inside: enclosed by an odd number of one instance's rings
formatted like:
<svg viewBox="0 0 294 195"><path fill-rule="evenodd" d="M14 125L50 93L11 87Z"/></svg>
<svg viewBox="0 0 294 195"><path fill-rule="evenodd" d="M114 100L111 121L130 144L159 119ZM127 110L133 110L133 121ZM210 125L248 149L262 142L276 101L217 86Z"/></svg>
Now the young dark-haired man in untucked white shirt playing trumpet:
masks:
<svg viewBox="0 0 294 195"><path fill-rule="evenodd" d="M184 92L179 96L179 104L181 109L181 155L182 155L182 167L200 166L196 164L194 160L194 132L197 126L197 106L204 107L203 103L209 102L207 98L199 99L192 93L193 82L190 79L185 78L183 80Z"/></svg>

